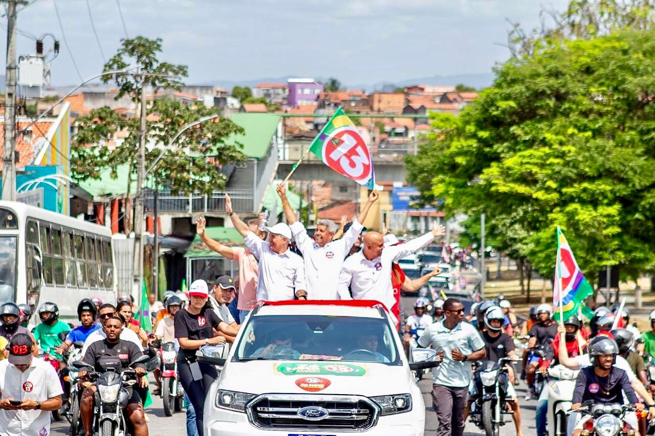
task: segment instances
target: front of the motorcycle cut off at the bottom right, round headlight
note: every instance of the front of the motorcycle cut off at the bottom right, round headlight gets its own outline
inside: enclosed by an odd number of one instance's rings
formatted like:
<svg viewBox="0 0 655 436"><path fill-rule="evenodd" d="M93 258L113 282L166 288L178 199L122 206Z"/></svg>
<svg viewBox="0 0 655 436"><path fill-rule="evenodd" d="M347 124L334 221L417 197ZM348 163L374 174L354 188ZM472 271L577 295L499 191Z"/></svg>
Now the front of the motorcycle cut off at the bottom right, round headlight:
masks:
<svg viewBox="0 0 655 436"><path fill-rule="evenodd" d="M635 430L625 420L627 412L635 411L633 405L622 404L605 404L593 401L585 401L582 406L576 410L569 410L567 415L578 412L590 419L583 424L582 435L585 436L608 436L608 435L626 435L632 436ZM638 413L638 415L640 415Z"/></svg>

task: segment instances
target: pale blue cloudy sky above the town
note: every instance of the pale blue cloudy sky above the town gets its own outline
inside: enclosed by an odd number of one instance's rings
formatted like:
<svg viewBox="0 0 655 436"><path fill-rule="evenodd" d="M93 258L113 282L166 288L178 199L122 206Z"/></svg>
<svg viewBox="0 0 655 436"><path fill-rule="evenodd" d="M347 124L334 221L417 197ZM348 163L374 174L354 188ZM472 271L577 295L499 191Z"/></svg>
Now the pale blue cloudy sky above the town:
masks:
<svg viewBox="0 0 655 436"><path fill-rule="evenodd" d="M102 71L86 0L31 0L18 28L62 41L52 83ZM164 40L162 60L189 66L188 83L261 77L337 77L345 84L488 73L508 58L506 19L537 26L539 11L568 0L119 0L128 35ZM105 57L125 36L116 0L89 0ZM0 46L7 45L6 17ZM46 47L50 47L50 40ZM18 36L18 54L33 52ZM3 53L4 54L4 53ZM5 56L1 56L4 71Z"/></svg>

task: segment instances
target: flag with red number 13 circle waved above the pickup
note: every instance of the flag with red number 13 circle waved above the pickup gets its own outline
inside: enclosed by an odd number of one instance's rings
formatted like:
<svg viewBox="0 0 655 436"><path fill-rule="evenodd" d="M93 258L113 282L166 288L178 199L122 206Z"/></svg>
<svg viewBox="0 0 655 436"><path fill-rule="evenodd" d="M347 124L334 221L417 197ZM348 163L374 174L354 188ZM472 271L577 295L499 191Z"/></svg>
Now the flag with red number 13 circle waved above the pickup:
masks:
<svg viewBox="0 0 655 436"><path fill-rule="evenodd" d="M357 127L341 107L314 138L309 151L335 172L369 189L375 189L371 153Z"/></svg>

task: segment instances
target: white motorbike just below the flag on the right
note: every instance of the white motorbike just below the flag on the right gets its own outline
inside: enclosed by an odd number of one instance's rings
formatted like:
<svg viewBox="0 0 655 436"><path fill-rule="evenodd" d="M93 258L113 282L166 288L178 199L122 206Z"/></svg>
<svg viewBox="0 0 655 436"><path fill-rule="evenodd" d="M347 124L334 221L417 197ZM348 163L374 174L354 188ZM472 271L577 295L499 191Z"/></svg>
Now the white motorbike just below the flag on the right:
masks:
<svg viewBox="0 0 655 436"><path fill-rule="evenodd" d="M567 435L567 412L571 410L578 372L564 365L548 368L548 436Z"/></svg>

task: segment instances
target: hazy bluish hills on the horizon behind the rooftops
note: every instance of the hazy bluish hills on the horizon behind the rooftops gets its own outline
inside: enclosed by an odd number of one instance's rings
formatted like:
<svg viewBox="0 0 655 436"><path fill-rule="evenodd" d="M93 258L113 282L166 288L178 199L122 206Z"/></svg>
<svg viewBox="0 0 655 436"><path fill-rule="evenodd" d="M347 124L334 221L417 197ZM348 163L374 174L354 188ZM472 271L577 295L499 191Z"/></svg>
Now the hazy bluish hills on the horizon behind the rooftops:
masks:
<svg viewBox="0 0 655 436"><path fill-rule="evenodd" d="M289 77L305 77L297 75L288 75L284 77L263 77L262 79L255 80L244 80L244 81L233 81L233 80L215 80L200 83L202 85L217 85L221 88L231 90L234 86L248 86L252 88L258 83L286 83ZM318 81L326 81L326 78L315 77ZM338 77L337 77L338 79ZM413 84L430 84L430 85L456 85L459 83L466 84L468 86L474 86L475 88L486 88L491 86L494 79L493 73L480 73L480 74L455 74L455 75L436 75L432 77L422 77L421 79L407 79L402 81L385 81L378 82L376 84L350 84L345 83L344 86L348 89L361 89L366 92L371 92L374 90L393 90L398 86L409 86Z"/></svg>

